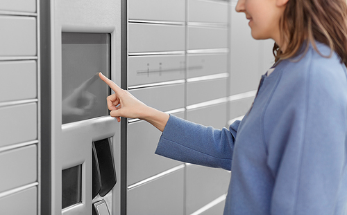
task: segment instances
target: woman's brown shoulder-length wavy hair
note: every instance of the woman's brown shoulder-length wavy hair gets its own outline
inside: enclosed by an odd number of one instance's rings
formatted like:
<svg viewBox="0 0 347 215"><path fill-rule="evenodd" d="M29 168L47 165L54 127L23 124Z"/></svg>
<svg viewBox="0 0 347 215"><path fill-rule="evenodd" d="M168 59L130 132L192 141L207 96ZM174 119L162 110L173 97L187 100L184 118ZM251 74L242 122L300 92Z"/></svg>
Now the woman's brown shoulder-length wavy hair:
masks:
<svg viewBox="0 0 347 215"><path fill-rule="evenodd" d="M316 48L316 41L335 50L341 62L347 66L347 4L346 0L289 0L280 19L282 44L285 51L275 43L275 62L298 54L307 39L305 53L310 44ZM329 56L331 57L332 51ZM321 53L319 53L321 55Z"/></svg>

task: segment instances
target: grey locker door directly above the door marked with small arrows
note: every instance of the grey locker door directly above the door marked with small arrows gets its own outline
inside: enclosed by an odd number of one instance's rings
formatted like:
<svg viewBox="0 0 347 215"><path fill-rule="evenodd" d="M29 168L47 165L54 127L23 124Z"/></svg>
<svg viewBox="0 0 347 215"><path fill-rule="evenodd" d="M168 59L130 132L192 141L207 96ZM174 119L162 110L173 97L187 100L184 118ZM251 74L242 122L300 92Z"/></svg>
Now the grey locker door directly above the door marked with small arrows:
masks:
<svg viewBox="0 0 347 215"><path fill-rule="evenodd" d="M185 50L185 26L128 25L129 53Z"/></svg>

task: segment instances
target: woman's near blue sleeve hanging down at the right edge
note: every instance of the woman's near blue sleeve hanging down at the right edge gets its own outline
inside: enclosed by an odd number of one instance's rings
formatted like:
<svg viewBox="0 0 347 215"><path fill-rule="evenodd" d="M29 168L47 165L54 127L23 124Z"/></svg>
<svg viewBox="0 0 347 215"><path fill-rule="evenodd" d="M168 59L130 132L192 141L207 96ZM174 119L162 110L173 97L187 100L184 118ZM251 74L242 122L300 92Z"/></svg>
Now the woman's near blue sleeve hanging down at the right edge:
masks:
<svg viewBox="0 0 347 215"><path fill-rule="evenodd" d="M281 81L264 115L271 214L337 214L346 200L346 75L324 67Z"/></svg>

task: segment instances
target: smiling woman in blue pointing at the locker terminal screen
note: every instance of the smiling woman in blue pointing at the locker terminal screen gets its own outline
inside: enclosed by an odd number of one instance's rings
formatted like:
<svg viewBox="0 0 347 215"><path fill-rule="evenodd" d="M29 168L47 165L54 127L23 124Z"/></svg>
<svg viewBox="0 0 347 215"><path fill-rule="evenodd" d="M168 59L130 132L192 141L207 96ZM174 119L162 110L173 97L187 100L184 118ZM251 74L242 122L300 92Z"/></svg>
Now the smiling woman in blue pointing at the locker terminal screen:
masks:
<svg viewBox="0 0 347 215"><path fill-rule="evenodd" d="M187 122L100 75L115 91L110 114L163 131L155 153L231 170L224 214L347 214L346 1L239 0L236 10L253 38L275 41L276 58L242 122Z"/></svg>

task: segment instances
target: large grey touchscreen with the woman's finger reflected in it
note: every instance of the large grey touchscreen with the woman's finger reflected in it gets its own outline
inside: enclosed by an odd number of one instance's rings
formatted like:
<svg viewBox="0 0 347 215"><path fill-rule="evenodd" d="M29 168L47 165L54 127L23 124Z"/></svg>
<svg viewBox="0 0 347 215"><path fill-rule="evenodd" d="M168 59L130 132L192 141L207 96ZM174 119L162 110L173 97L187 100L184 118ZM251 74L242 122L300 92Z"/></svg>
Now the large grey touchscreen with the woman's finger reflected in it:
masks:
<svg viewBox="0 0 347 215"><path fill-rule="evenodd" d="M62 32L62 124L108 115L110 34Z"/></svg>

